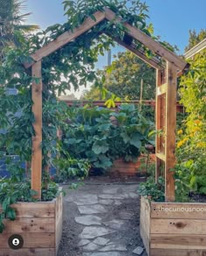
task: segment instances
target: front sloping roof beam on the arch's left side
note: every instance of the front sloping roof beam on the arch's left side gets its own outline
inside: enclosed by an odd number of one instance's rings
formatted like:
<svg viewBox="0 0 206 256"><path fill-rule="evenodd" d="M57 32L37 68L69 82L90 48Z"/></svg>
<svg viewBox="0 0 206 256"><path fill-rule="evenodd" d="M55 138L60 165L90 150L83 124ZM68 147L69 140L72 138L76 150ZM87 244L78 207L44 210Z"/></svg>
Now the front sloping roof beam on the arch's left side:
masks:
<svg viewBox="0 0 206 256"><path fill-rule="evenodd" d="M57 39L53 40L48 45L31 54L31 58L35 61L42 60L42 58L57 51L60 47L65 46L73 39L78 38L81 34L91 29L94 25L98 25L102 20L104 20L105 12L97 11L93 14L93 17L96 18L95 21L92 18L86 18L85 22L78 28L58 36ZM33 63L27 63L24 66L25 68L30 68L32 64Z"/></svg>

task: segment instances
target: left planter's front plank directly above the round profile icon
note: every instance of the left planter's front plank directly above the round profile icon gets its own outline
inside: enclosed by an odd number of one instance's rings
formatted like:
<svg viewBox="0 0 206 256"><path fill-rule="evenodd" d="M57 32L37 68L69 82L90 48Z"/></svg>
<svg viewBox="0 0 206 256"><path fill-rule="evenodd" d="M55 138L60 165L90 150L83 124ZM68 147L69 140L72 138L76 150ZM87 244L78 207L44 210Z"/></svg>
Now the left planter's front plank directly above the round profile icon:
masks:
<svg viewBox="0 0 206 256"><path fill-rule="evenodd" d="M55 231L54 218L17 218L15 221L6 219L4 222L5 233L52 233Z"/></svg>

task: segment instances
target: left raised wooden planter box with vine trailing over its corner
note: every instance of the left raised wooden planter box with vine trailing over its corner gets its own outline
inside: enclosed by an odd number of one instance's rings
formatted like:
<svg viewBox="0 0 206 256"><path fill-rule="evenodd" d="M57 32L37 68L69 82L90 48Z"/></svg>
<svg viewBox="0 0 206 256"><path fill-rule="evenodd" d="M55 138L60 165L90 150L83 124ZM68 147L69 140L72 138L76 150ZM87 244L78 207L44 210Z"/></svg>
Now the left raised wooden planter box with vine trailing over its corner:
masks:
<svg viewBox="0 0 206 256"><path fill-rule="evenodd" d="M16 203L15 221L5 220L0 234L0 256L56 256L62 235L62 194L52 202ZM22 249L8 245L11 235L24 239Z"/></svg>

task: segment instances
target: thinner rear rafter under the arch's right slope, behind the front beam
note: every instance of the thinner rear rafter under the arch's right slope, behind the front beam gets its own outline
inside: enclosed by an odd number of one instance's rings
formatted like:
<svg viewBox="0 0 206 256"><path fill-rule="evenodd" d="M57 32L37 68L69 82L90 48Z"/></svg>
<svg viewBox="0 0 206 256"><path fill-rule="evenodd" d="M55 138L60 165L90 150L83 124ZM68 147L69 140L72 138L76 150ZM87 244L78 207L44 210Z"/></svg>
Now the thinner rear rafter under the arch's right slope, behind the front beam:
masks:
<svg viewBox="0 0 206 256"><path fill-rule="evenodd" d="M136 56L138 56L141 60L145 61L148 63L148 65L150 65L151 67L158 69L161 68L161 65L159 65L157 62L155 62L153 59L148 59L148 57L146 57L143 53L141 53L140 51L138 51L137 49L135 49L133 46L129 46L127 45L125 42L123 42L121 39L118 39L116 37L113 37L112 35L110 35L109 33L106 32L106 35L108 37L110 37L111 39L113 39L114 41L116 41L120 46L123 46L125 48L127 48L127 50L129 50L130 52L134 53Z"/></svg>

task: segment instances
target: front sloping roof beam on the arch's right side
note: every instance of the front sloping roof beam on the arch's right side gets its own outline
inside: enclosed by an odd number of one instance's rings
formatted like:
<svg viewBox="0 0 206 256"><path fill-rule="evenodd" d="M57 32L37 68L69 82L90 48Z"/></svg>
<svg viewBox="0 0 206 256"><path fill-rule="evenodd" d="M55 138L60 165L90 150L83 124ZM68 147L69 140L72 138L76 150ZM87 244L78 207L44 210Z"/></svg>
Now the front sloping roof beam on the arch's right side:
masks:
<svg viewBox="0 0 206 256"><path fill-rule="evenodd" d="M116 14L110 9L106 8L106 19L113 20L115 23L120 23L122 18L118 18ZM141 32L138 28L135 28L133 25L129 25L127 22L123 23L127 28L127 34L132 36L134 39L140 41L144 46L147 46L155 54L161 56L164 60L168 60L171 63L175 64L176 69L180 68L183 70L187 66L187 62L178 57L175 53L172 53L164 46L161 46L160 43L154 41L151 37L146 35L144 32Z"/></svg>

